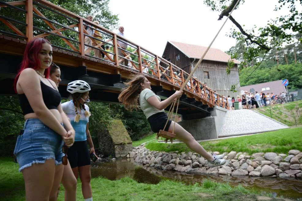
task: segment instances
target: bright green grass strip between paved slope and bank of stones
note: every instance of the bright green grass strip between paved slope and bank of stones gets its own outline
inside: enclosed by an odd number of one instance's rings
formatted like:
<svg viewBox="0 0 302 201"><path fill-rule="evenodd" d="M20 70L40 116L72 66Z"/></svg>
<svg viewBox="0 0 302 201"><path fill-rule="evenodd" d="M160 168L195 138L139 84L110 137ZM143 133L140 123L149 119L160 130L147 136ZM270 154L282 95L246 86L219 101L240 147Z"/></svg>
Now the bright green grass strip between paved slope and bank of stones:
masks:
<svg viewBox="0 0 302 201"><path fill-rule="evenodd" d="M286 128L278 131L265 132L258 135L228 138L224 140L213 140L200 142L206 151L247 152L253 154L257 152L276 152L287 154L291 149L302 151L302 127ZM154 151L191 151L184 143L165 144L149 142L145 145L149 150Z"/></svg>

